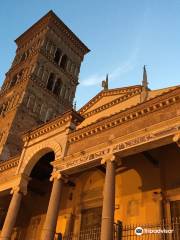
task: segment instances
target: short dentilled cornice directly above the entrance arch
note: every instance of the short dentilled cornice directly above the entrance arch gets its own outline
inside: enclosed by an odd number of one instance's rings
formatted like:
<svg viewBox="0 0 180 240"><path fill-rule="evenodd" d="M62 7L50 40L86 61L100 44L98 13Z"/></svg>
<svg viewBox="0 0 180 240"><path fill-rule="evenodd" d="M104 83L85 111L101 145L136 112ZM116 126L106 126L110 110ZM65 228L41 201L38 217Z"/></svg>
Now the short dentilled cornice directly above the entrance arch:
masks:
<svg viewBox="0 0 180 240"><path fill-rule="evenodd" d="M56 117L55 119L52 119L48 123L44 123L38 127L32 128L30 131L24 133L22 135L23 141L28 141L35 139L37 137L40 137L44 134L47 134L48 132L51 132L67 122L72 123L74 125L79 124L83 121L83 117L74 111L73 109L70 111L65 112L62 116ZM71 127L71 126L69 126Z"/></svg>

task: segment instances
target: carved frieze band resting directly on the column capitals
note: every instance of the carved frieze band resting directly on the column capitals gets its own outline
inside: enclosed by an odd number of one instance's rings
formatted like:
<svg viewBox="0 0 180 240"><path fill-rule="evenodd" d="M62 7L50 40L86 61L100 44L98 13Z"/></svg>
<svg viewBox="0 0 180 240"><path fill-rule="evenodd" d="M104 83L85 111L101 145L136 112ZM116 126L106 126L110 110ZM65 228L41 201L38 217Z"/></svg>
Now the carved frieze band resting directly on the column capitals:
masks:
<svg viewBox="0 0 180 240"><path fill-rule="evenodd" d="M94 151L90 153L84 152L83 154L81 153L80 157L67 156L61 161L56 162L54 165L56 165L56 168L62 173L68 170L71 170L73 168L78 169L78 167L81 167L83 165L87 166L88 164L92 165L93 163L97 163L97 161L100 159L102 159L103 161L103 158L105 160L110 159L109 157L115 156L117 153L120 153L122 151L129 150L131 148L134 148L149 142L154 142L156 140L159 140L165 137L169 137L171 135L176 134L179 131L180 131L180 124L172 127L168 127L168 128L163 128L158 131L156 130L151 133L147 133L135 138L131 138L129 140L119 141L119 143L116 143L116 144L113 143L108 147L99 149L98 151ZM112 160L114 160L113 157L112 157Z"/></svg>

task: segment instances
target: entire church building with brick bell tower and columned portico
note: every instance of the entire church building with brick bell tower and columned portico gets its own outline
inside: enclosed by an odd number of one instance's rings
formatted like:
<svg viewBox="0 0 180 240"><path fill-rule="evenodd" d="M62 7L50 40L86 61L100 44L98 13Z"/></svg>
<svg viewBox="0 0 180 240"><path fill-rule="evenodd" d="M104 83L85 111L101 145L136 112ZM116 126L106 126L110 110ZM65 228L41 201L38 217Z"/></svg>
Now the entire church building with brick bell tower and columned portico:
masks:
<svg viewBox="0 0 180 240"><path fill-rule="evenodd" d="M144 67L142 85L107 77L76 111L85 44L52 11L16 44L0 91L0 240L134 239L123 226L178 219L180 87L150 90Z"/></svg>

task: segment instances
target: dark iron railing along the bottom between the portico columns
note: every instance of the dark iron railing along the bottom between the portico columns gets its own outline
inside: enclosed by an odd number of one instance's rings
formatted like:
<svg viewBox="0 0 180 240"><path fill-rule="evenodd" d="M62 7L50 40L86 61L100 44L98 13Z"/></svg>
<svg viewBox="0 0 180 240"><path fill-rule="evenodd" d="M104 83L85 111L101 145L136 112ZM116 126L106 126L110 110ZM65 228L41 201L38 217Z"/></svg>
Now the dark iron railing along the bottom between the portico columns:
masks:
<svg viewBox="0 0 180 240"><path fill-rule="evenodd" d="M91 227L75 235L70 233L55 240L100 240L101 228ZM157 224L122 225L119 221L114 224L114 240L180 240L180 217L163 220Z"/></svg>

